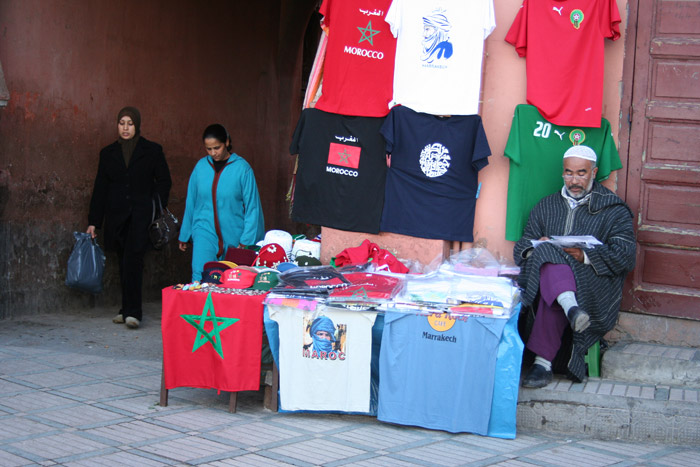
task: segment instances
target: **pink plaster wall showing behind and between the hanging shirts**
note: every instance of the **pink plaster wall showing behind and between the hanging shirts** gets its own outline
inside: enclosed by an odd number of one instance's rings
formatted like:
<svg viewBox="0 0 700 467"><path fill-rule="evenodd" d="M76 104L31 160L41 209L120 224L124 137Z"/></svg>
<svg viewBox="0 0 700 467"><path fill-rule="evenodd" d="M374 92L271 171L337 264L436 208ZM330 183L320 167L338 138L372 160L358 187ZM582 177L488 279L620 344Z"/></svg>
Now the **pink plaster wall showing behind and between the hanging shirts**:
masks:
<svg viewBox="0 0 700 467"><path fill-rule="evenodd" d="M525 104L525 59L519 58L515 48L505 42L504 38L513 19L522 4L522 0L497 0L496 29L486 39L484 46L484 75L482 81L483 103L481 115L484 128L491 147L492 156L489 165L479 173L482 183L481 193L476 204L474 219L474 242L486 247L496 257L510 258L513 242L505 240L506 196L508 192L508 159L503 150L508 139L508 132L513 118L513 111L518 104ZM625 29L627 24L627 1L618 0L622 17L620 30L622 37L615 42L605 44L605 83L603 91L603 117L610 121L613 136L618 143L620 102L622 98L622 64L624 58ZM553 38L553 40L556 40ZM626 155L621 154L623 169L626 170ZM615 188L616 176L610 177L604 184ZM423 259L440 251L449 252L469 244L447 244L442 247L436 240L416 239L381 234L370 236L349 232L339 232L324 228L324 258L330 259L347 246L359 245L369 238L380 246L393 250L407 259ZM384 244L383 244L384 243Z"/></svg>

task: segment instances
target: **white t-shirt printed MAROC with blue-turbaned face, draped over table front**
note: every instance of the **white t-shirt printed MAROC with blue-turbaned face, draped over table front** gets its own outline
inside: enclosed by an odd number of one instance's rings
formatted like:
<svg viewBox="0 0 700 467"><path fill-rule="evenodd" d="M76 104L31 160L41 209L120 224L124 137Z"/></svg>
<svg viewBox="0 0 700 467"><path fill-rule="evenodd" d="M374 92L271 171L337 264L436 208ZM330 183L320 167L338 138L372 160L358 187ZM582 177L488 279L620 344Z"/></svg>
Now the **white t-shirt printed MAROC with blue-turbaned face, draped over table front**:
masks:
<svg viewBox="0 0 700 467"><path fill-rule="evenodd" d="M268 306L279 324L282 410L369 412L375 312Z"/></svg>

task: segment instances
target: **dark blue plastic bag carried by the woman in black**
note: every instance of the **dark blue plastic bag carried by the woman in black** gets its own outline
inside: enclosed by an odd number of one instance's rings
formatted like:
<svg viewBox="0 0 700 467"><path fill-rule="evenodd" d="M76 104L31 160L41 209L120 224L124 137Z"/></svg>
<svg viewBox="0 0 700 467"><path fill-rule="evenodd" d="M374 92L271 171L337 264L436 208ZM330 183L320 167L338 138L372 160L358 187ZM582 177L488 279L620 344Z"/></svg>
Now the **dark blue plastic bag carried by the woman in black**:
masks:
<svg viewBox="0 0 700 467"><path fill-rule="evenodd" d="M82 292L102 292L105 255L89 233L73 232L75 245L68 257L66 285Z"/></svg>

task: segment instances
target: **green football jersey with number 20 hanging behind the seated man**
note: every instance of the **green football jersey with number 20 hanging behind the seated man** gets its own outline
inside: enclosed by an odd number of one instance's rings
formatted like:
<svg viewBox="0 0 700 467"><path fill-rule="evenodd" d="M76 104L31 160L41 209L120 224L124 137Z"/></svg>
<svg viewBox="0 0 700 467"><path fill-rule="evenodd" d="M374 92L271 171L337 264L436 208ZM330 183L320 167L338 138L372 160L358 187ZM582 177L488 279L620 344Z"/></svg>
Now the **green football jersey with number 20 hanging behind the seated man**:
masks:
<svg viewBox="0 0 700 467"><path fill-rule="evenodd" d="M600 128L559 126L545 120L535 106L515 107L505 149L505 156L510 159L506 240L520 240L530 210L539 200L561 189L564 153L579 144L590 147L598 156L599 182L622 168L606 119L601 119Z"/></svg>

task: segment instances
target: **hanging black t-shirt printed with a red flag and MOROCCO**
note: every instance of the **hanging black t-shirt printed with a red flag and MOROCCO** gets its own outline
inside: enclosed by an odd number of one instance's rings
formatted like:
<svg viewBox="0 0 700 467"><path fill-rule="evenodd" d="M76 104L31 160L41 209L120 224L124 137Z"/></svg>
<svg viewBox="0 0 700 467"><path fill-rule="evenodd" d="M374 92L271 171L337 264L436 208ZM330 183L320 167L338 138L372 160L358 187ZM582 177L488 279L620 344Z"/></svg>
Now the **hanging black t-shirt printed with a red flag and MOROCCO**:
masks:
<svg viewBox="0 0 700 467"><path fill-rule="evenodd" d="M378 233L386 153L381 117L304 109L289 152L299 154L292 220Z"/></svg>

